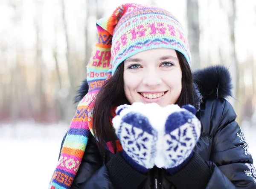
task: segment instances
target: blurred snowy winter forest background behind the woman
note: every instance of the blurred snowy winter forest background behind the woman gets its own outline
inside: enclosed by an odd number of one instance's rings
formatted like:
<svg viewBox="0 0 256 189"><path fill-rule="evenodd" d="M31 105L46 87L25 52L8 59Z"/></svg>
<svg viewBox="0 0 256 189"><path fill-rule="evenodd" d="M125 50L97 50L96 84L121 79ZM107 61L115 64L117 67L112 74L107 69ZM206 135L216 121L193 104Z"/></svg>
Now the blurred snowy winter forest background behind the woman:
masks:
<svg viewBox="0 0 256 189"><path fill-rule="evenodd" d="M188 34L193 70L229 67L229 100L256 160L255 0L0 0L0 188L47 188L96 19L121 3L172 12Z"/></svg>

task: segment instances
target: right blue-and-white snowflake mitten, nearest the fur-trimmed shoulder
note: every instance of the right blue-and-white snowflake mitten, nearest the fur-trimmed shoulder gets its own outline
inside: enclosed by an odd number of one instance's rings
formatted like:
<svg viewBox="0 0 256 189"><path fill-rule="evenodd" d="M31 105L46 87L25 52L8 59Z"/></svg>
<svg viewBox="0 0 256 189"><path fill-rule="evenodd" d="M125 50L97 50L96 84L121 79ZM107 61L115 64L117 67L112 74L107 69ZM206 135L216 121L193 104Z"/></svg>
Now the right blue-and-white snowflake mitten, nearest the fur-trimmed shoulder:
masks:
<svg viewBox="0 0 256 189"><path fill-rule="evenodd" d="M201 134L201 123L195 116L195 107L191 105L181 108L168 105L165 112L169 112L169 115L165 122L163 148L160 149L163 159L156 165L160 164L168 172L175 173L192 158Z"/></svg>

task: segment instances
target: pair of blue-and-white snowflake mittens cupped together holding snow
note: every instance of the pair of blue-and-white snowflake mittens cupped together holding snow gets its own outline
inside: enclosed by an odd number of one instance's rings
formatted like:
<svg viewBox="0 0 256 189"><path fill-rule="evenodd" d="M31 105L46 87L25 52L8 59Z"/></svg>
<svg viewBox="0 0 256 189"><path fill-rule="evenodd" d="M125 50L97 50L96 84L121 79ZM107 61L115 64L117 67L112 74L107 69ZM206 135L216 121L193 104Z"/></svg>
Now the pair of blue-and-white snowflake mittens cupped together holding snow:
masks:
<svg viewBox="0 0 256 189"><path fill-rule="evenodd" d="M192 158L201 134L201 123L191 105L121 105L113 126L123 157L141 172L154 165L171 173L179 171Z"/></svg>

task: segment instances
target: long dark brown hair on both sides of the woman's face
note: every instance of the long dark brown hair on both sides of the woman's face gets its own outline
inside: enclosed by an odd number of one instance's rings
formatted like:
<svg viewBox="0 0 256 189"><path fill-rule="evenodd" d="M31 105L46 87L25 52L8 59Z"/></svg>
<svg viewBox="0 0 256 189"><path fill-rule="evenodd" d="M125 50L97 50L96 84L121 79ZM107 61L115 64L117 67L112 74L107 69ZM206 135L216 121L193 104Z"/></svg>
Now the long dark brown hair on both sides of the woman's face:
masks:
<svg viewBox="0 0 256 189"><path fill-rule="evenodd" d="M179 106L186 104L194 106L195 97L191 69L184 55L177 51L176 54L182 71L182 89L176 104ZM94 136L98 139L96 143L100 152L104 152L104 143L107 141L112 141L114 149L116 149L114 141L117 138L110 122L110 119L113 118L111 110L121 104L130 104L125 97L123 72L124 64L121 63L116 69L115 74L102 86L96 97L93 109L93 132Z"/></svg>

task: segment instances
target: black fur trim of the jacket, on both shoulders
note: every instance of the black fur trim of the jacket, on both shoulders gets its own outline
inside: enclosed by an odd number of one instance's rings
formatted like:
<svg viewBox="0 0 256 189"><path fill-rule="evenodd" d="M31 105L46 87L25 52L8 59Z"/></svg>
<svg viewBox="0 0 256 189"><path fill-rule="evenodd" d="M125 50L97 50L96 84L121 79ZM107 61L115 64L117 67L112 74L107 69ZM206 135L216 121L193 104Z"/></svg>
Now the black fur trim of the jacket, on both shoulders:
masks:
<svg viewBox="0 0 256 189"><path fill-rule="evenodd" d="M231 77L225 66L218 65L200 69L193 73L193 77L203 100L231 96ZM87 80L83 80L74 99L75 103L79 102L87 92L88 83Z"/></svg>

